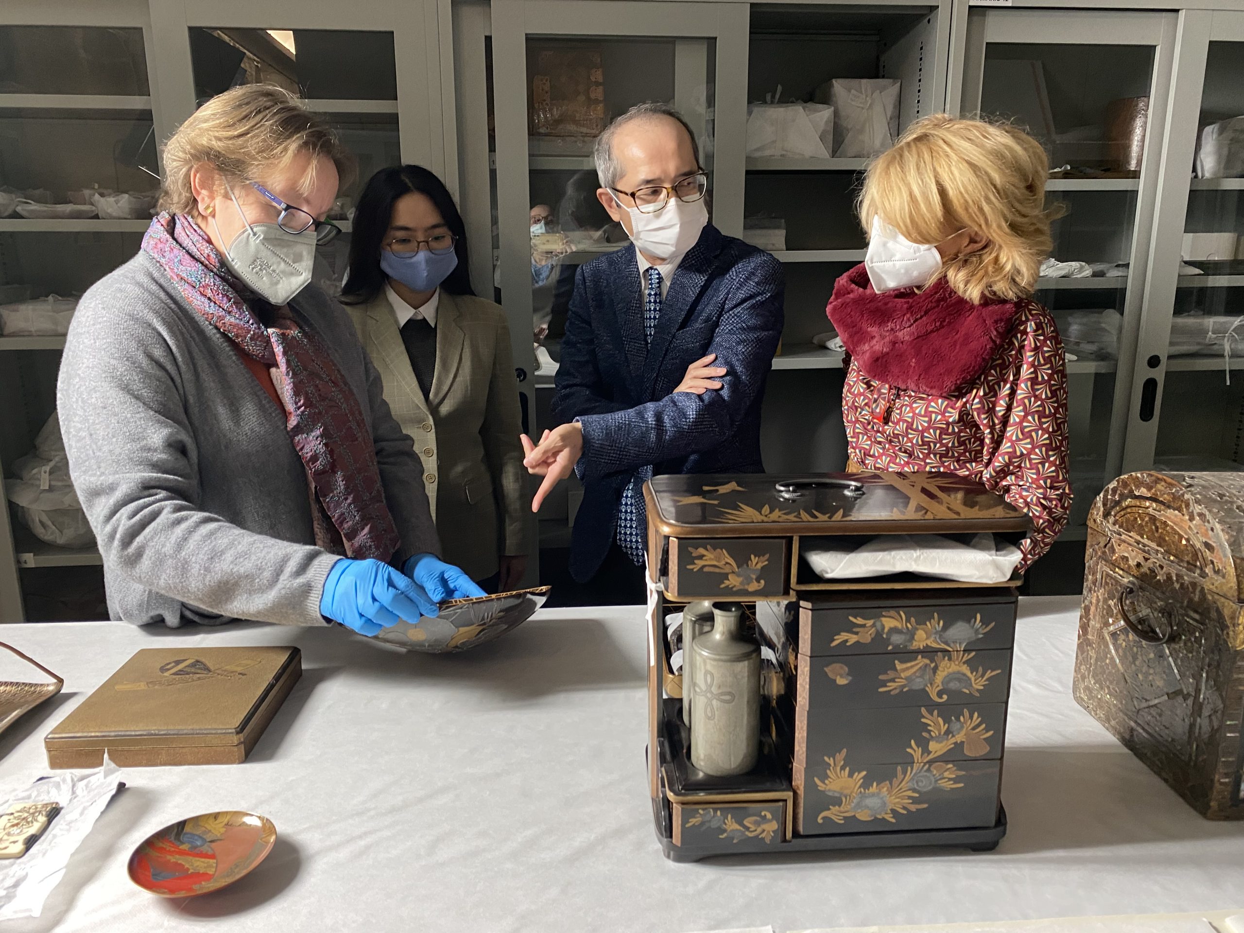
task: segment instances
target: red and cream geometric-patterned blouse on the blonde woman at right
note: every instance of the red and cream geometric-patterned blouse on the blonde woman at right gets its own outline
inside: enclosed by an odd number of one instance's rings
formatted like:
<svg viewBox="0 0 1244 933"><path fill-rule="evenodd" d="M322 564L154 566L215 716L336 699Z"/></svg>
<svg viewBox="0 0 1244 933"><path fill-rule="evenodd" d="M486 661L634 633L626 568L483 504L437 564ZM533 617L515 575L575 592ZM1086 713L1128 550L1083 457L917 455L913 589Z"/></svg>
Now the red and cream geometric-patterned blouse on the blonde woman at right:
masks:
<svg viewBox="0 0 1244 933"><path fill-rule="evenodd" d="M1067 377L1050 312L1016 302L1015 332L954 398L899 389L852 362L842 389L847 450L863 469L954 473L1024 510L1024 571L1067 522Z"/></svg>

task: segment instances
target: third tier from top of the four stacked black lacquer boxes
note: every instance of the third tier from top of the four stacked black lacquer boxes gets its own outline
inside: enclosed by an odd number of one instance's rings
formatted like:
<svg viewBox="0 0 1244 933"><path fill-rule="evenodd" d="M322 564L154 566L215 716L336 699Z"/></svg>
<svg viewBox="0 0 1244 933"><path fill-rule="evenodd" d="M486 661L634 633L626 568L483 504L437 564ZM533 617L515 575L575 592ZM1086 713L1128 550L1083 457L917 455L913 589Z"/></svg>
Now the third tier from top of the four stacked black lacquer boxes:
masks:
<svg viewBox="0 0 1244 933"><path fill-rule="evenodd" d="M826 712L796 707L794 759L817 766L842 753L857 766L995 759L1005 731L1005 703Z"/></svg>

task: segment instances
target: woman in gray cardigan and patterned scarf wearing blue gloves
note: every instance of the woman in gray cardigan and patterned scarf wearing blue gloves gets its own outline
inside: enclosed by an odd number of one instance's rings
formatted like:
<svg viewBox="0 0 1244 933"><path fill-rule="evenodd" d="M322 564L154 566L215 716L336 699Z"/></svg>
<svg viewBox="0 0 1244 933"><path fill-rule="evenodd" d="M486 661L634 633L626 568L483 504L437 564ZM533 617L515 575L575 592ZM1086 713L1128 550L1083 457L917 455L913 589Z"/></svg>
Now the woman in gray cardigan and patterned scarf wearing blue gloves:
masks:
<svg viewBox="0 0 1244 933"><path fill-rule="evenodd" d="M348 315L310 284L352 162L292 95L238 87L169 139L139 254L78 304L57 403L113 618L376 634L480 596Z"/></svg>

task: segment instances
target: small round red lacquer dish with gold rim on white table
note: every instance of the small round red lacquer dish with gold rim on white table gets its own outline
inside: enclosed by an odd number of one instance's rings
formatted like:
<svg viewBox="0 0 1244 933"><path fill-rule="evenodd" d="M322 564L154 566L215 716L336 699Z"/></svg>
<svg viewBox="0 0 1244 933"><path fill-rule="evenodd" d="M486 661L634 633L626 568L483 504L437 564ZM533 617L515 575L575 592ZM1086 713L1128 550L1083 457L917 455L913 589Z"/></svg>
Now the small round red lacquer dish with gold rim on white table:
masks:
<svg viewBox="0 0 1244 933"><path fill-rule="evenodd" d="M143 840L129 856L129 880L160 897L207 894L249 875L275 843L276 827L266 816L202 814Z"/></svg>

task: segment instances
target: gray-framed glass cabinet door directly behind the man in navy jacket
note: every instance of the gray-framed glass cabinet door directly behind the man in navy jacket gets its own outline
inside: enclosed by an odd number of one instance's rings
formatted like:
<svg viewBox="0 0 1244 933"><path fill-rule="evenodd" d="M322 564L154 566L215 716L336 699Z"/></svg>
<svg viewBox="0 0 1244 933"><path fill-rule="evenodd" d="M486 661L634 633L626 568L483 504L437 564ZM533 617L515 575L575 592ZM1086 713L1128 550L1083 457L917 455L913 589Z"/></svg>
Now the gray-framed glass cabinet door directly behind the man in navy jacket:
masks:
<svg viewBox="0 0 1244 933"><path fill-rule="evenodd" d="M510 318L527 429L552 423L552 378L578 267L628 243L597 198L592 159L615 117L638 103L673 104L695 136L712 221L740 231L745 114L736 62L745 17L735 4L491 5L494 281ZM726 112L723 91L735 101ZM733 183L723 184L723 170ZM576 493L555 496L541 510L545 546L569 542Z"/></svg>

